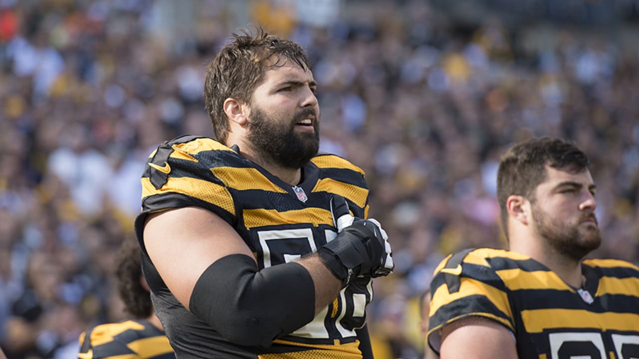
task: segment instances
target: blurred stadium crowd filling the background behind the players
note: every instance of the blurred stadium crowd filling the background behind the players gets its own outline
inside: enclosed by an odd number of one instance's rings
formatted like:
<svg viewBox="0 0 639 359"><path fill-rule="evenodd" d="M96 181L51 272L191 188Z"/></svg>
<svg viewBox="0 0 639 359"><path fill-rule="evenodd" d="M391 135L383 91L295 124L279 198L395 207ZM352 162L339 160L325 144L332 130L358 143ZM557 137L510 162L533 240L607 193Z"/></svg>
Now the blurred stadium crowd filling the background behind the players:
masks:
<svg viewBox="0 0 639 359"><path fill-rule="evenodd" d="M367 173L370 215L396 263L374 284L377 358L419 355L417 298L443 256L504 247L495 177L513 141L552 135L584 149L604 238L595 254L637 263L639 42L627 39L637 38L638 2L616 2L630 18L597 10L613 1L565 2L583 10L569 22L552 1L514 2L515 18L444 3L1 0L9 359L72 358L88 326L123 319L113 261L134 235L146 157L176 135L212 135L204 68L250 21L309 51L321 151Z"/></svg>

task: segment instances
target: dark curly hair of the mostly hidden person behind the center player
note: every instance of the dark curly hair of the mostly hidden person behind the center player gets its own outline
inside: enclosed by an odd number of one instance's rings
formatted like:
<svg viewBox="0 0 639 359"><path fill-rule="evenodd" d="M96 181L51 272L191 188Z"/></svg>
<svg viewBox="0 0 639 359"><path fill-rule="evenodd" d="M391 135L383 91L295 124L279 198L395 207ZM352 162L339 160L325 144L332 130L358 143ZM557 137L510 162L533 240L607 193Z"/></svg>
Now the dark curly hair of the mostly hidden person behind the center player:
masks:
<svg viewBox="0 0 639 359"><path fill-rule="evenodd" d="M116 258L116 280L118 294L124 302L128 314L144 319L153 314L151 296L140 282L142 278L142 264L140 247L135 238L127 237L123 240Z"/></svg>

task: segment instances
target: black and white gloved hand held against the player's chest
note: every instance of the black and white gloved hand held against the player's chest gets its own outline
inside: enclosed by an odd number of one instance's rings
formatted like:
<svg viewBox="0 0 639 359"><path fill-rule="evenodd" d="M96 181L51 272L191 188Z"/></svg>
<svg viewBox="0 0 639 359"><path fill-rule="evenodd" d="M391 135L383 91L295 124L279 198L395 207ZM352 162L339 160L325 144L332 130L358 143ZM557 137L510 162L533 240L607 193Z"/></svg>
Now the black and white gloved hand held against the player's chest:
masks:
<svg viewBox="0 0 639 359"><path fill-rule="evenodd" d="M320 247L318 254L343 286L357 275L381 277L393 268L392 252L386 232L374 219L353 217L344 197L334 195L331 213L337 237Z"/></svg>

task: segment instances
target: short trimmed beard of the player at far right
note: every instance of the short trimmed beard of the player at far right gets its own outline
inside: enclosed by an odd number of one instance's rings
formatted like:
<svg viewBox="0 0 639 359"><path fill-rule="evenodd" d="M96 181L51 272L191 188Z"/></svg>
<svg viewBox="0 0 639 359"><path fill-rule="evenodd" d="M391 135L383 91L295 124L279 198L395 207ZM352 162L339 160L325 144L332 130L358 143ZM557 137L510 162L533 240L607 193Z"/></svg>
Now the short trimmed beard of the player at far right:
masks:
<svg viewBox="0 0 639 359"><path fill-rule="evenodd" d="M583 257L601 245L601 233L599 233L598 227L580 234L577 228L578 224L570 225L555 221L534 203L532 204L532 215L537 223L537 230L546 243L553 247L558 254L573 261L581 261Z"/></svg>

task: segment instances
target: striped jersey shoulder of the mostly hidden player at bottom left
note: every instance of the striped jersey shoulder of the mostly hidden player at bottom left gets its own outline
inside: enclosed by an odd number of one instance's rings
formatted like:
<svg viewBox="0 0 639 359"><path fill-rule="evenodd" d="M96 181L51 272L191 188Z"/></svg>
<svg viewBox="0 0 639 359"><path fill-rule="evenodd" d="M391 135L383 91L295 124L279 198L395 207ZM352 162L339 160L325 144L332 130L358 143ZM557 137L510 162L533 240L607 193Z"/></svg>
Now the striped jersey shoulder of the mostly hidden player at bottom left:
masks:
<svg viewBox="0 0 639 359"><path fill-rule="evenodd" d="M79 359L175 358L169 339L146 320L98 325L80 335Z"/></svg>

